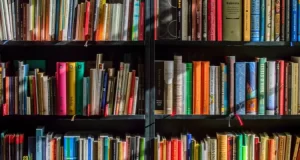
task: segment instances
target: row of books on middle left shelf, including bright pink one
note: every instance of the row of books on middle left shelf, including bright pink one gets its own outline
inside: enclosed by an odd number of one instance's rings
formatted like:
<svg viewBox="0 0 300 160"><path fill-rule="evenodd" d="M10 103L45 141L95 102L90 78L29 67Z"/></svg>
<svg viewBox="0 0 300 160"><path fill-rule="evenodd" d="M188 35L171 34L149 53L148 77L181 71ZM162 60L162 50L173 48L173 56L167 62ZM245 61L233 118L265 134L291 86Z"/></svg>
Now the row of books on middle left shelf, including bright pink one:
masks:
<svg viewBox="0 0 300 160"><path fill-rule="evenodd" d="M135 115L143 114L143 64L132 69L126 60L117 70L97 54L85 62L57 62L56 76L48 76L18 61L17 74L0 67L3 115ZM85 73L85 67L88 67ZM88 76L85 76L88 75Z"/></svg>

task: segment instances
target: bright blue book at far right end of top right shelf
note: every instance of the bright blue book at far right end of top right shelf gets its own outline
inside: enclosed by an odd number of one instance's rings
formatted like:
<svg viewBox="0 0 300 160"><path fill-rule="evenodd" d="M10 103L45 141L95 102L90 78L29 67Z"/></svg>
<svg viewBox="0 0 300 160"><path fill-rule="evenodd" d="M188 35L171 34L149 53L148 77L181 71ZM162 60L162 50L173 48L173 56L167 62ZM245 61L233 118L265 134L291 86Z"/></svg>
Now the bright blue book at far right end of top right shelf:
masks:
<svg viewBox="0 0 300 160"><path fill-rule="evenodd" d="M292 0L291 1L291 41L296 42L298 40L297 37L297 19L298 19L298 14L297 14L297 8L298 8L298 1L297 0Z"/></svg>

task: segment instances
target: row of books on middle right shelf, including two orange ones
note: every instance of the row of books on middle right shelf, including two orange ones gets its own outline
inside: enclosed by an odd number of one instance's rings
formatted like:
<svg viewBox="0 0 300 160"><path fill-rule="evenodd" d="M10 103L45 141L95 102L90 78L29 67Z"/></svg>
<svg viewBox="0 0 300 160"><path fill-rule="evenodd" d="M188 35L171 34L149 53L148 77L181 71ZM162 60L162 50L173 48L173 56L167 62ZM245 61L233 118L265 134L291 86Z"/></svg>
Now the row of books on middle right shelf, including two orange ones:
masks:
<svg viewBox="0 0 300 160"><path fill-rule="evenodd" d="M297 115L300 57L291 61L155 62L156 114Z"/></svg>

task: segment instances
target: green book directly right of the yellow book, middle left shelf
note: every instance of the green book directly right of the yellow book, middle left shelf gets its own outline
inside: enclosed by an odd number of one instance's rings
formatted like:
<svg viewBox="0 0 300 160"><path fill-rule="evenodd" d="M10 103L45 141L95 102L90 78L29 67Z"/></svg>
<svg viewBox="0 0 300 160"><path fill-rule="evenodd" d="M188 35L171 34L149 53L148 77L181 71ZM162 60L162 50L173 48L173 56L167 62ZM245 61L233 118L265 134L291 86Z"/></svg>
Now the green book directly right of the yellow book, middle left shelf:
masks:
<svg viewBox="0 0 300 160"><path fill-rule="evenodd" d="M76 62L76 115L83 115L83 76L84 62Z"/></svg>

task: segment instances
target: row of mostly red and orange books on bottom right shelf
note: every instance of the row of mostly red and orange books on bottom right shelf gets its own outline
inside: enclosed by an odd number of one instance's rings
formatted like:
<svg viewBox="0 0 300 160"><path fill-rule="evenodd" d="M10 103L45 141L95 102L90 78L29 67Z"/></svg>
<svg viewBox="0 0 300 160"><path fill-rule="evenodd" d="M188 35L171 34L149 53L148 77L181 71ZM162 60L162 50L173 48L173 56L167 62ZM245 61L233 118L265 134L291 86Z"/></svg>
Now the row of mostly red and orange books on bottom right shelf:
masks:
<svg viewBox="0 0 300 160"><path fill-rule="evenodd" d="M157 136L154 160L291 160L300 158L299 142L290 133L216 133L201 140L189 133L171 139Z"/></svg>

